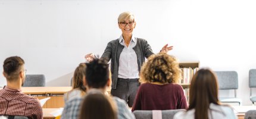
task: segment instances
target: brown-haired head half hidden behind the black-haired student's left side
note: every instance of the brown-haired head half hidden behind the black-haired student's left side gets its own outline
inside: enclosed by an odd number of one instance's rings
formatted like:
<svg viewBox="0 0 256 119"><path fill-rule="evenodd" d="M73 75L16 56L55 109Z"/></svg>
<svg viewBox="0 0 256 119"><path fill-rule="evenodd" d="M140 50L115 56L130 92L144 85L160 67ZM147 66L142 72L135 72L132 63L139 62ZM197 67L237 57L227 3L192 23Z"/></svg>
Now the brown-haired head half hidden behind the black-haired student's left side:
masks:
<svg viewBox="0 0 256 119"><path fill-rule="evenodd" d="M72 87L73 89L80 89L83 92L86 92L85 84L83 83L85 80L85 70L86 70L86 64L81 63L79 66L74 70L74 76L72 81Z"/></svg>

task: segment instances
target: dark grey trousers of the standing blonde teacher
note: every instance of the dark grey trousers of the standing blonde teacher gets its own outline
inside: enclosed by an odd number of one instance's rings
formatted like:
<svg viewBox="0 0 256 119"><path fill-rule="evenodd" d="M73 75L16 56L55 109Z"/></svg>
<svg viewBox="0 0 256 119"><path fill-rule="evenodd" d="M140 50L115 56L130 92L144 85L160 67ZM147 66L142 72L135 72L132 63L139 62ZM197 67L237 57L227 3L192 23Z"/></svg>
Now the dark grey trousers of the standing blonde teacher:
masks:
<svg viewBox="0 0 256 119"><path fill-rule="evenodd" d="M139 89L139 79L117 79L117 88L111 89L111 95L117 96L132 107L133 101Z"/></svg>

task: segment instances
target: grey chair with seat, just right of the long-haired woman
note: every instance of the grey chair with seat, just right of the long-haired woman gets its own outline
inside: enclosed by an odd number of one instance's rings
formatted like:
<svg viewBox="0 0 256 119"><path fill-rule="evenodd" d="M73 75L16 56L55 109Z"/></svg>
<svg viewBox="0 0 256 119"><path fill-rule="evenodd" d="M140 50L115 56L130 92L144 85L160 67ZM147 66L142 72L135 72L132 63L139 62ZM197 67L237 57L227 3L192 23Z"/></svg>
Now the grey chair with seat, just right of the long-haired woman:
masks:
<svg viewBox="0 0 256 119"><path fill-rule="evenodd" d="M218 79L218 89L235 90L234 97L221 97L220 102L238 103L242 105L242 99L236 98L236 89L238 89L238 73L236 71L215 71Z"/></svg>

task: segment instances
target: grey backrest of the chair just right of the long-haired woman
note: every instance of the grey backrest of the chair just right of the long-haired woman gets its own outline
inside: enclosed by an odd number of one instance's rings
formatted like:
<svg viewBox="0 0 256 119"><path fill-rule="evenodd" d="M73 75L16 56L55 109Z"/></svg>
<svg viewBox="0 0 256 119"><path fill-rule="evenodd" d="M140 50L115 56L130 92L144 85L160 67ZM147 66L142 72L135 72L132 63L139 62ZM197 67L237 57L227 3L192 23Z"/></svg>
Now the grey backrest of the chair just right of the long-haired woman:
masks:
<svg viewBox="0 0 256 119"><path fill-rule="evenodd" d="M238 73L236 71L214 71L218 79L218 89L238 89Z"/></svg>

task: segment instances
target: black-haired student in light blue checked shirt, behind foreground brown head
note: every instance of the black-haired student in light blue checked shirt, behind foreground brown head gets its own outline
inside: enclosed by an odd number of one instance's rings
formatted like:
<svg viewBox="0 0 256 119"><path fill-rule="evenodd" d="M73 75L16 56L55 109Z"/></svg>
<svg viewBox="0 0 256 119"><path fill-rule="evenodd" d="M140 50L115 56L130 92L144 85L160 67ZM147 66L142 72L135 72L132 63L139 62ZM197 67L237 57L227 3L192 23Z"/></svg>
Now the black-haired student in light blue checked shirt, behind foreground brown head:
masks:
<svg viewBox="0 0 256 119"><path fill-rule="evenodd" d="M109 78L109 70L108 70L108 63L107 61L101 59L95 59L89 63L86 64L86 84L88 86L88 91L92 89L98 89L101 90L102 93L105 93L107 90L107 87L110 86L110 78ZM126 106L126 103L117 97L112 97L113 101L117 105L118 109L118 118L129 118L133 119L135 118L132 112L129 111L129 109ZM65 108L67 108L68 111L70 111L70 117L68 119L75 119L79 118L79 112L80 112L80 104L83 101L83 98L73 98L71 101L67 102L67 105L65 105Z"/></svg>

